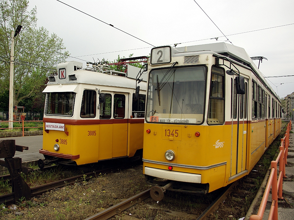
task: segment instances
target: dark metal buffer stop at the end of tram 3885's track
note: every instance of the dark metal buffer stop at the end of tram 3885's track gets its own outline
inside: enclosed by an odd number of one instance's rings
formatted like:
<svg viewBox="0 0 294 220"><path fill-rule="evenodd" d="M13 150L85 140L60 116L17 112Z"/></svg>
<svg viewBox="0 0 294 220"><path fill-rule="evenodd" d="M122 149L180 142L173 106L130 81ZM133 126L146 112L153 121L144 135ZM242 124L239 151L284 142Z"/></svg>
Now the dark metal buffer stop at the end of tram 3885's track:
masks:
<svg viewBox="0 0 294 220"><path fill-rule="evenodd" d="M31 199L31 188L19 175L20 172L29 171L29 167L22 167L21 158L14 158L15 151L28 150L28 147L15 145L15 140L1 140L0 141L0 165L7 167L11 176L12 192L14 192L14 201L24 197L26 200Z"/></svg>

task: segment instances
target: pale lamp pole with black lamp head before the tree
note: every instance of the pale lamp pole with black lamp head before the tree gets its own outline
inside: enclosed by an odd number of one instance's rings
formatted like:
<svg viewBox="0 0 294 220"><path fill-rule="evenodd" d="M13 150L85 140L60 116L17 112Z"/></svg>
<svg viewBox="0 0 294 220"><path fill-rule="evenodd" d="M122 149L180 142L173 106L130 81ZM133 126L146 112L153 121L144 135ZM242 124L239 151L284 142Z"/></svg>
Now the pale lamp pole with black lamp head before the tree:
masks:
<svg viewBox="0 0 294 220"><path fill-rule="evenodd" d="M10 52L10 78L9 78L9 128L13 129L13 84L14 84L14 38L19 34L22 26L17 26L15 32L11 31L11 52Z"/></svg>

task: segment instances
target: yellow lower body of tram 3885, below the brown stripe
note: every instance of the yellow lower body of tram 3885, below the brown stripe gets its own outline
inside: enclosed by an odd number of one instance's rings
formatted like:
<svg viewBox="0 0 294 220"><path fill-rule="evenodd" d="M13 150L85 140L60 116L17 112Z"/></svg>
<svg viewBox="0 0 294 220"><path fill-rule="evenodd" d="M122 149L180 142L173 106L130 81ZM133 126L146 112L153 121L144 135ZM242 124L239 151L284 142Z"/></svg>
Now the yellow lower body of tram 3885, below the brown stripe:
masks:
<svg viewBox="0 0 294 220"><path fill-rule="evenodd" d="M66 132L44 129L43 150L48 152L47 155L51 153L53 156L76 161L77 165L124 156L132 157L143 146L143 119L140 123L138 120L132 123L131 120L129 123L117 124L65 124ZM58 151L54 150L56 143L60 146Z"/></svg>

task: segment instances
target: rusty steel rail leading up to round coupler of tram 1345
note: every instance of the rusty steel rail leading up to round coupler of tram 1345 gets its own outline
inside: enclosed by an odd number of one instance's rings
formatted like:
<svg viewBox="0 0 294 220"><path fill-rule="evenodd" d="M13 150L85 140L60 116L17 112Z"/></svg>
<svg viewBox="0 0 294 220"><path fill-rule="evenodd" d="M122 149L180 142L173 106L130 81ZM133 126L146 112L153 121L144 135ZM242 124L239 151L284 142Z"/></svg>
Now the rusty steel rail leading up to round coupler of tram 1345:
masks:
<svg viewBox="0 0 294 220"><path fill-rule="evenodd" d="M124 209L127 209L131 207L132 205L141 202L144 199L147 199L150 197L150 189L146 189L143 192L138 193L137 195L134 195L133 197L126 199L116 205L113 205L109 207L108 209L104 209L101 212L98 212L84 220L106 220L111 218L112 216L116 215L117 213L120 213Z"/></svg>

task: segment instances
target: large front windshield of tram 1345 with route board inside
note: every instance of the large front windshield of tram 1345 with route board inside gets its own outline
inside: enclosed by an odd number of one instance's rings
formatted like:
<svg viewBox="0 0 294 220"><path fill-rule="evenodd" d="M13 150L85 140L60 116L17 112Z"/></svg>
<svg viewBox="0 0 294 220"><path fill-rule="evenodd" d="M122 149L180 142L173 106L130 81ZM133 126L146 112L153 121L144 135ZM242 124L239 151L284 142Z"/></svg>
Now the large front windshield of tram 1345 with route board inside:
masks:
<svg viewBox="0 0 294 220"><path fill-rule="evenodd" d="M201 124L204 120L206 67L151 70L146 121Z"/></svg>

